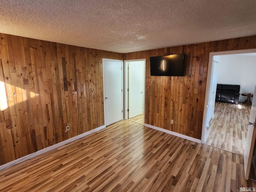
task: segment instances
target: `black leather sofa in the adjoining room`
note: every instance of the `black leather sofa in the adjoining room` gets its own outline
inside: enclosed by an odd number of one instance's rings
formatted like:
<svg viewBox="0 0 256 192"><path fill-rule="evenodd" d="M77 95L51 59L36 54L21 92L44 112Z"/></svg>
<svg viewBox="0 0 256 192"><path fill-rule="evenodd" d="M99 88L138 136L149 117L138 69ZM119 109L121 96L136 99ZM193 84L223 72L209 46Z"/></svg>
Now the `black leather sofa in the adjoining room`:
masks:
<svg viewBox="0 0 256 192"><path fill-rule="evenodd" d="M217 84L216 102L238 104L240 85Z"/></svg>

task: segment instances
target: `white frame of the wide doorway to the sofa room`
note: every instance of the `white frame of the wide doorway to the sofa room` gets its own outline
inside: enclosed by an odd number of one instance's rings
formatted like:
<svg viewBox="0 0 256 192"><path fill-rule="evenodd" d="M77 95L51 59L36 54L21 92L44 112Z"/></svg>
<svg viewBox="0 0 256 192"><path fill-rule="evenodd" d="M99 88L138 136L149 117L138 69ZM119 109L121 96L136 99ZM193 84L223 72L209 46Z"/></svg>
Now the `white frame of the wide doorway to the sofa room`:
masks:
<svg viewBox="0 0 256 192"><path fill-rule="evenodd" d="M206 124L207 124L207 113L208 113L208 103L209 103L209 92L211 84L211 74L212 74L212 61L214 55L231 55L231 54L240 54L240 53L255 53L256 49L243 49L243 50L232 50L232 51L221 51L221 52L210 52L209 63L208 63L208 73L206 81L206 92L204 99L204 116L203 116L203 125L202 125L202 136L201 143L205 143L206 136Z"/></svg>

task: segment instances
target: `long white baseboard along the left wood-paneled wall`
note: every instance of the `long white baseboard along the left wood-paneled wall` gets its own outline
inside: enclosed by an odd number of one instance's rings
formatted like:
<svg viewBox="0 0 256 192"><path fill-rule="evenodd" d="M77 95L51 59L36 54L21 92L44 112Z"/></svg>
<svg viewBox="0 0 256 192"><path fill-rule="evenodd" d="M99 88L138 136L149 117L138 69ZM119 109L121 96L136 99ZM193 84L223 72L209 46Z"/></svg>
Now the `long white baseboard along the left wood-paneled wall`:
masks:
<svg viewBox="0 0 256 192"><path fill-rule="evenodd" d="M21 162L24 162L24 161L26 161L26 160L29 160L29 159L31 159L31 158L33 158L33 157L36 157L36 156L41 155L41 154L43 154L43 153L46 153L46 152L48 152L48 151L50 151L50 150L56 149L56 148L58 148L58 147L60 147L60 146L63 146L63 145L65 145L65 144L68 144L68 143L70 143L70 142L72 142L72 141L78 140L78 139L80 139L80 138L82 138L82 137L84 137L84 136L87 136L87 135L90 135L90 134L92 134L92 133L94 133L94 132L97 132L97 131L99 131L99 130L102 130L102 129L104 129L105 127L106 127L105 125L100 126L100 127L96 128L96 129L90 130L90 131L85 132L85 133L82 133L82 134L80 134L80 135L78 135L78 136L74 136L74 137L72 137L72 138L70 138L70 139L67 139L67 140L62 141L62 142L60 142L60 143L57 143L57 144L55 144L55 145L52 145L52 146L50 146L50 147L44 148L44 149L42 149L42 150L39 150L39 151L37 151L37 152L35 152L35 153L28 154L27 156L24 156L24 157L22 157L22 158L18 158L18 159L16 159L16 160L12 161L12 162L8 162L8 163L6 163L6 164L3 164L3 165L0 166L0 170L3 170L3 169L5 169L5 168L7 168L7 167L10 167L10 166L19 164L19 163L21 163Z"/></svg>

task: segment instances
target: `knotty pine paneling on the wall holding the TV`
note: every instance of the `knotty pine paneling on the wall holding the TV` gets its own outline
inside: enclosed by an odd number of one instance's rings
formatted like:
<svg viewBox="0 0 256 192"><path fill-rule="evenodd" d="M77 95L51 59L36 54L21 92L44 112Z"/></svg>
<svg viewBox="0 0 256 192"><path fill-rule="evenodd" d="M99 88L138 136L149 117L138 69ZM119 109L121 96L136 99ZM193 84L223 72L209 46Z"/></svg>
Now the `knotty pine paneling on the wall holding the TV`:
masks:
<svg viewBox="0 0 256 192"><path fill-rule="evenodd" d="M201 139L210 52L251 48L256 36L124 54L124 60L146 58L145 123ZM183 77L150 76L150 57L181 53Z"/></svg>

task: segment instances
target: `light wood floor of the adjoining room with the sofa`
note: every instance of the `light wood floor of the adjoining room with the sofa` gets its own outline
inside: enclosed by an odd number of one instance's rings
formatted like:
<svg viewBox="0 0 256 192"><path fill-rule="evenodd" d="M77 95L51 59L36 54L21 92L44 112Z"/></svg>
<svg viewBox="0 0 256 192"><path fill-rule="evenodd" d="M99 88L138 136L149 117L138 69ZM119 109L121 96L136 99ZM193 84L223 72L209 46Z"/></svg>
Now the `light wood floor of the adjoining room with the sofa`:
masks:
<svg viewBox="0 0 256 192"><path fill-rule="evenodd" d="M251 106L216 102L205 144L244 155Z"/></svg>

